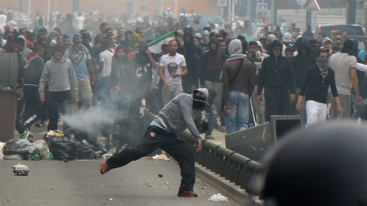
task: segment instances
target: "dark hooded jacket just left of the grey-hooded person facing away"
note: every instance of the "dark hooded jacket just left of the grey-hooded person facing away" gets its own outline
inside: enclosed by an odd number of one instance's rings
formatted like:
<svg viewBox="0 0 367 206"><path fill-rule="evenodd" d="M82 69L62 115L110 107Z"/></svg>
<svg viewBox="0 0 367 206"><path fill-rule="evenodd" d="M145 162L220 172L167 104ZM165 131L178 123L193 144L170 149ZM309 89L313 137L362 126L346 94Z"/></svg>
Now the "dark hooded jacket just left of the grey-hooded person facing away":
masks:
<svg viewBox="0 0 367 206"><path fill-rule="evenodd" d="M210 44L211 43L215 43L217 44L217 49L212 50L210 48ZM223 66L224 62L228 59L228 56L225 55L224 53L219 51L219 41L216 37L211 37L208 43L209 46L209 51L206 52L203 56L203 60L201 61L201 71L200 71L200 85L204 85L205 81L210 81L210 82L222 82L222 80L219 79L219 77L221 76L221 72L222 69L218 69L218 70L212 70L212 69L208 69L208 60L209 60L209 55L214 54L215 52L219 52L219 54L221 55L221 60L222 60L222 65Z"/></svg>

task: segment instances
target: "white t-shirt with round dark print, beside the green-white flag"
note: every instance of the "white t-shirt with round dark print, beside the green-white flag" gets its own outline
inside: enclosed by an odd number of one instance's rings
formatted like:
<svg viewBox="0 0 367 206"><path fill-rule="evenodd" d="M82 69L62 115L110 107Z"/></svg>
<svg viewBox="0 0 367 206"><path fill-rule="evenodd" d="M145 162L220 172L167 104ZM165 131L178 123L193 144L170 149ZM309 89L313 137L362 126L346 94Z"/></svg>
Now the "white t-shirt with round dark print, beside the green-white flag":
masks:
<svg viewBox="0 0 367 206"><path fill-rule="evenodd" d="M186 66L185 57L183 57L183 55L178 53L176 53L175 56L170 56L169 54L163 55L159 62L159 66L164 66L164 79L168 84L181 84L181 77L172 78L170 73L182 73L182 67Z"/></svg>

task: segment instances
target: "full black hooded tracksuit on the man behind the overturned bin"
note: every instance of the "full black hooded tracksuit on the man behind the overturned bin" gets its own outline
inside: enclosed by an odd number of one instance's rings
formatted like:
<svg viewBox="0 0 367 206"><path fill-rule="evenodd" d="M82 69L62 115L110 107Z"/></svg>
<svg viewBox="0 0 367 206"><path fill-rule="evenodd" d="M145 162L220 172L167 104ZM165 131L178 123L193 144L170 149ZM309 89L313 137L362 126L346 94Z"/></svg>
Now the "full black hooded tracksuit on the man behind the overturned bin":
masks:
<svg viewBox="0 0 367 206"><path fill-rule="evenodd" d="M272 47L282 47L279 41L273 41ZM272 115L286 114L289 103L288 90L291 94L295 93L295 77L292 64L289 59L279 55L275 58L273 52L271 56L262 61L257 95L260 95L262 89L265 99L265 121L270 121Z"/></svg>

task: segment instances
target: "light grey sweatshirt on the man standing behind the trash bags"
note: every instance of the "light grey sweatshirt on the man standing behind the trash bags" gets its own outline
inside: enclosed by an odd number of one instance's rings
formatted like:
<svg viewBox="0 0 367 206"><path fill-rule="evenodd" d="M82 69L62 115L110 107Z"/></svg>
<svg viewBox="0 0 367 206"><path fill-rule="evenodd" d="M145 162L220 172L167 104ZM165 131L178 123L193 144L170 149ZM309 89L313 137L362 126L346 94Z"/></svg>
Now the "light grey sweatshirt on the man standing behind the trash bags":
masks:
<svg viewBox="0 0 367 206"><path fill-rule="evenodd" d="M47 83L48 82L48 83ZM66 56L60 61L51 60L46 62L40 79L38 93L44 95L44 88L48 84L48 91L63 92L71 89L73 95L77 94L78 85L75 77L73 64Z"/></svg>

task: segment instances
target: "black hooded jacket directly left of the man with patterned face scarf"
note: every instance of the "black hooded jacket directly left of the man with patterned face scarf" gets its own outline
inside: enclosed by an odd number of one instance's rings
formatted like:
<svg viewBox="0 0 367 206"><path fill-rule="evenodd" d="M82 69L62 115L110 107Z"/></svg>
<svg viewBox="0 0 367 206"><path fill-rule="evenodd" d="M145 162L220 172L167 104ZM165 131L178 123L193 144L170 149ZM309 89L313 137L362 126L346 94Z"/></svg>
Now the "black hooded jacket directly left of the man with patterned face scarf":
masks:
<svg viewBox="0 0 367 206"><path fill-rule="evenodd" d="M307 49L306 55L302 54L301 52L302 48ZM306 70L308 67L316 64L316 58L310 54L310 48L308 46L308 43L306 43L305 41L301 41L298 44L297 52L298 52L297 56L294 56L291 59L291 63L294 70L296 87L301 88Z"/></svg>

